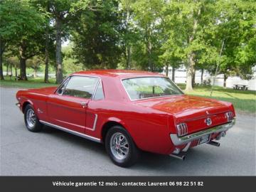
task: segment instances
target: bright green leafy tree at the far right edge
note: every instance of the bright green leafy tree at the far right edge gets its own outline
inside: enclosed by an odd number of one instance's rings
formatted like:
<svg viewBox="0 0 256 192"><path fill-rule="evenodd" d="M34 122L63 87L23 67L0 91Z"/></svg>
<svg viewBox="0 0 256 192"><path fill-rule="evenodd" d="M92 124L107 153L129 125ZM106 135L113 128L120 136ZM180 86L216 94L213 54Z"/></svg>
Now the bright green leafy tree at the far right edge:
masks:
<svg viewBox="0 0 256 192"><path fill-rule="evenodd" d="M220 50L224 41L218 73L224 75L223 87L229 76L249 79L255 60L255 1L218 1L215 6L215 25L211 45ZM216 65L213 65L216 66Z"/></svg>

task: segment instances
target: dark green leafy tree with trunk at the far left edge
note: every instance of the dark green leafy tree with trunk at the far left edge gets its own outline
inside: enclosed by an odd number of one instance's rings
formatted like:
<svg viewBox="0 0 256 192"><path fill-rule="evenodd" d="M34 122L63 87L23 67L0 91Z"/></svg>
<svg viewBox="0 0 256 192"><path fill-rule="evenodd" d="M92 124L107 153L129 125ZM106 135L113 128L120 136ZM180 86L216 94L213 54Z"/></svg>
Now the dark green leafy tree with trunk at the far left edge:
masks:
<svg viewBox="0 0 256 192"><path fill-rule="evenodd" d="M43 18L28 4L28 1L12 0L1 1L0 16L0 44L4 45L4 49L6 46L12 46L11 50L20 60L21 80L27 80L26 60L36 55L38 51L37 40L40 37L38 32L41 31ZM3 46L1 46L1 55L2 53L4 53Z"/></svg>

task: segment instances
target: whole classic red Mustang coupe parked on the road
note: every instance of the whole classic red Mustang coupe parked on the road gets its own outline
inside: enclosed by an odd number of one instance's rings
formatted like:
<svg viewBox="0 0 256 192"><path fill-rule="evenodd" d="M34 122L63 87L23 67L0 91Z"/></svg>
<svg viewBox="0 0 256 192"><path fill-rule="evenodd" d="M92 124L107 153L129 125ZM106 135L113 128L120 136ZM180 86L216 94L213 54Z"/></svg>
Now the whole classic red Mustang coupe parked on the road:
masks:
<svg viewBox="0 0 256 192"><path fill-rule="evenodd" d="M131 166L139 149L184 159L198 144L219 146L235 124L231 103L184 95L164 75L134 70L74 73L59 87L20 90L26 128L43 124L105 144L118 166Z"/></svg>

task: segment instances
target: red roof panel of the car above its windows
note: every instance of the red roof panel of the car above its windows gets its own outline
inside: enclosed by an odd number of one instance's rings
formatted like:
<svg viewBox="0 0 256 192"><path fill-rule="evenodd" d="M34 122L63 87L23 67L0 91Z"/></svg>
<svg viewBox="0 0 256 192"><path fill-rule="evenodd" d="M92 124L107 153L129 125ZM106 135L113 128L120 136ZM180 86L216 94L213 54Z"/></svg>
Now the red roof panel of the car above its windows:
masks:
<svg viewBox="0 0 256 192"><path fill-rule="evenodd" d="M95 76L108 76L119 78L138 78L146 76L164 77L160 73L152 73L143 70L82 70L72 75L95 75Z"/></svg>

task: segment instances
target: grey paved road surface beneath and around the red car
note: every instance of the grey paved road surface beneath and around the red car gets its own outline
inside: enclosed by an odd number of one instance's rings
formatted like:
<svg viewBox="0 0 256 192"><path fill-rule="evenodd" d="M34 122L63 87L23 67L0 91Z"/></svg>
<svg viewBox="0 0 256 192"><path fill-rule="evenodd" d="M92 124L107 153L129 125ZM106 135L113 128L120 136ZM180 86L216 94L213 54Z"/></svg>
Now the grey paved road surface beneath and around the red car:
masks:
<svg viewBox="0 0 256 192"><path fill-rule="evenodd" d="M255 117L238 114L237 124L220 140L188 151L181 161L143 153L129 169L112 164L104 146L45 127L26 130L15 106L17 89L1 92L1 175L8 176L244 176L256 175ZM255 105L255 104L252 104Z"/></svg>

